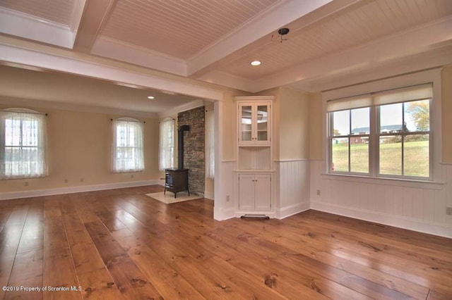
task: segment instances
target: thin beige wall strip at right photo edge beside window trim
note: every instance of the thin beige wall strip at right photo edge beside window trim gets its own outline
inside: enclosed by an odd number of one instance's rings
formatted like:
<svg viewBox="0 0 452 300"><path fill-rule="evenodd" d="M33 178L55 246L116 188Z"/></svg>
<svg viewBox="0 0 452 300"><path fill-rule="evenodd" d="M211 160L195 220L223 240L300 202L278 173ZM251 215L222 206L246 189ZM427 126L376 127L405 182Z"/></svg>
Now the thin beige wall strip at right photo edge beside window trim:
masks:
<svg viewBox="0 0 452 300"><path fill-rule="evenodd" d="M452 66L441 71L443 163L452 163Z"/></svg>

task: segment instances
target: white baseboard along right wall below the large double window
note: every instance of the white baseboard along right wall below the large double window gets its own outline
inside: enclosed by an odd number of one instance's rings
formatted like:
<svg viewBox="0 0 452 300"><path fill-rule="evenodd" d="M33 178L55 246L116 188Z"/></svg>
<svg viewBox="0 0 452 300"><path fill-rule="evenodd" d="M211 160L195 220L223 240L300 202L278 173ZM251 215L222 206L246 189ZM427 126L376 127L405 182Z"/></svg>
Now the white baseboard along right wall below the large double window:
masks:
<svg viewBox="0 0 452 300"><path fill-rule="evenodd" d="M314 209L316 211L324 211L326 213L335 213L336 215L343 215L345 217L366 220L373 223L380 223L393 227L400 227L408 230L424 232L430 235L439 235L441 237L452 238L452 226L427 223L421 220L398 217L396 215L376 213L373 211L364 211L358 208L348 208L316 201L311 201L311 209Z"/></svg>

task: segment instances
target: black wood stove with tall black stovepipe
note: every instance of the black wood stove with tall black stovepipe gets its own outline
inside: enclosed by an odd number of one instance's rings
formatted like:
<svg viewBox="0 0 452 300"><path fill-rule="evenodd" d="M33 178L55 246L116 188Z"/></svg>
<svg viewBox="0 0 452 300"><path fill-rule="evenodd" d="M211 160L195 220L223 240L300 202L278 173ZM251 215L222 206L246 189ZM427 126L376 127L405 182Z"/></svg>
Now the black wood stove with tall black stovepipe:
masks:
<svg viewBox="0 0 452 300"><path fill-rule="evenodd" d="M189 169L184 168L184 132L189 131L189 125L182 125L177 130L177 155L178 168L165 169L165 192L174 193L174 198L177 198L177 192L189 192Z"/></svg>

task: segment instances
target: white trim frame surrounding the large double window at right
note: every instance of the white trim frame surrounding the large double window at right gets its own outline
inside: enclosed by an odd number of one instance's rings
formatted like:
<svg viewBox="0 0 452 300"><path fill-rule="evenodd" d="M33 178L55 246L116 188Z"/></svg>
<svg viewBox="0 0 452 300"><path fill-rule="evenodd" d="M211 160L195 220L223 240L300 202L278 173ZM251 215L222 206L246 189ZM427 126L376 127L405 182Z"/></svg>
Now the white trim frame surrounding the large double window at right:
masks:
<svg viewBox="0 0 452 300"><path fill-rule="evenodd" d="M369 94L377 91L384 91L388 89L398 89L408 87L412 85L422 85L427 82L433 83L433 101L432 101L432 119L430 120L432 144L430 154L432 156L432 177L431 180L410 180L407 178L392 178L392 177L373 177L366 175L348 175L348 174L333 174L328 173L328 154L329 154L329 142L328 142L328 113L327 102L333 99L345 98L347 96L354 96L359 94ZM328 180L348 180L348 181L360 181L360 182L372 182L376 184L387 185L388 182L396 182L397 185L412 186L422 182L422 184L429 186L431 183L433 188L436 189L437 185L443 185L442 182L442 170L441 170L441 157L442 157L442 132L441 132L441 68L434 70L427 70L419 73L413 73L410 75L402 75L398 77L388 78L385 80L377 80L374 82L368 82L362 85L355 85L352 87L344 87L342 89L334 89L328 92L322 93L323 101L323 177ZM376 159L370 158L369 159ZM376 162L374 162L376 163Z"/></svg>

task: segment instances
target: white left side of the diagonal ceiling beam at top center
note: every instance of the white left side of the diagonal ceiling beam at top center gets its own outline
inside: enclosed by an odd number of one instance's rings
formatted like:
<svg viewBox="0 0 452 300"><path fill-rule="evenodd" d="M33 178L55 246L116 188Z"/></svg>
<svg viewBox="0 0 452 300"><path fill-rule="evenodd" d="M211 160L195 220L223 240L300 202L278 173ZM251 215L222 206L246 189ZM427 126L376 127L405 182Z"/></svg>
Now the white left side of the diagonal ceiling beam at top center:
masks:
<svg viewBox="0 0 452 300"><path fill-rule="evenodd" d="M237 51L244 46L270 34L274 30L301 18L307 13L328 4L332 0L285 0L268 8L246 22L244 25L233 30L217 42L198 52L187 60L187 75L193 75L208 65L219 61L221 58Z"/></svg>

